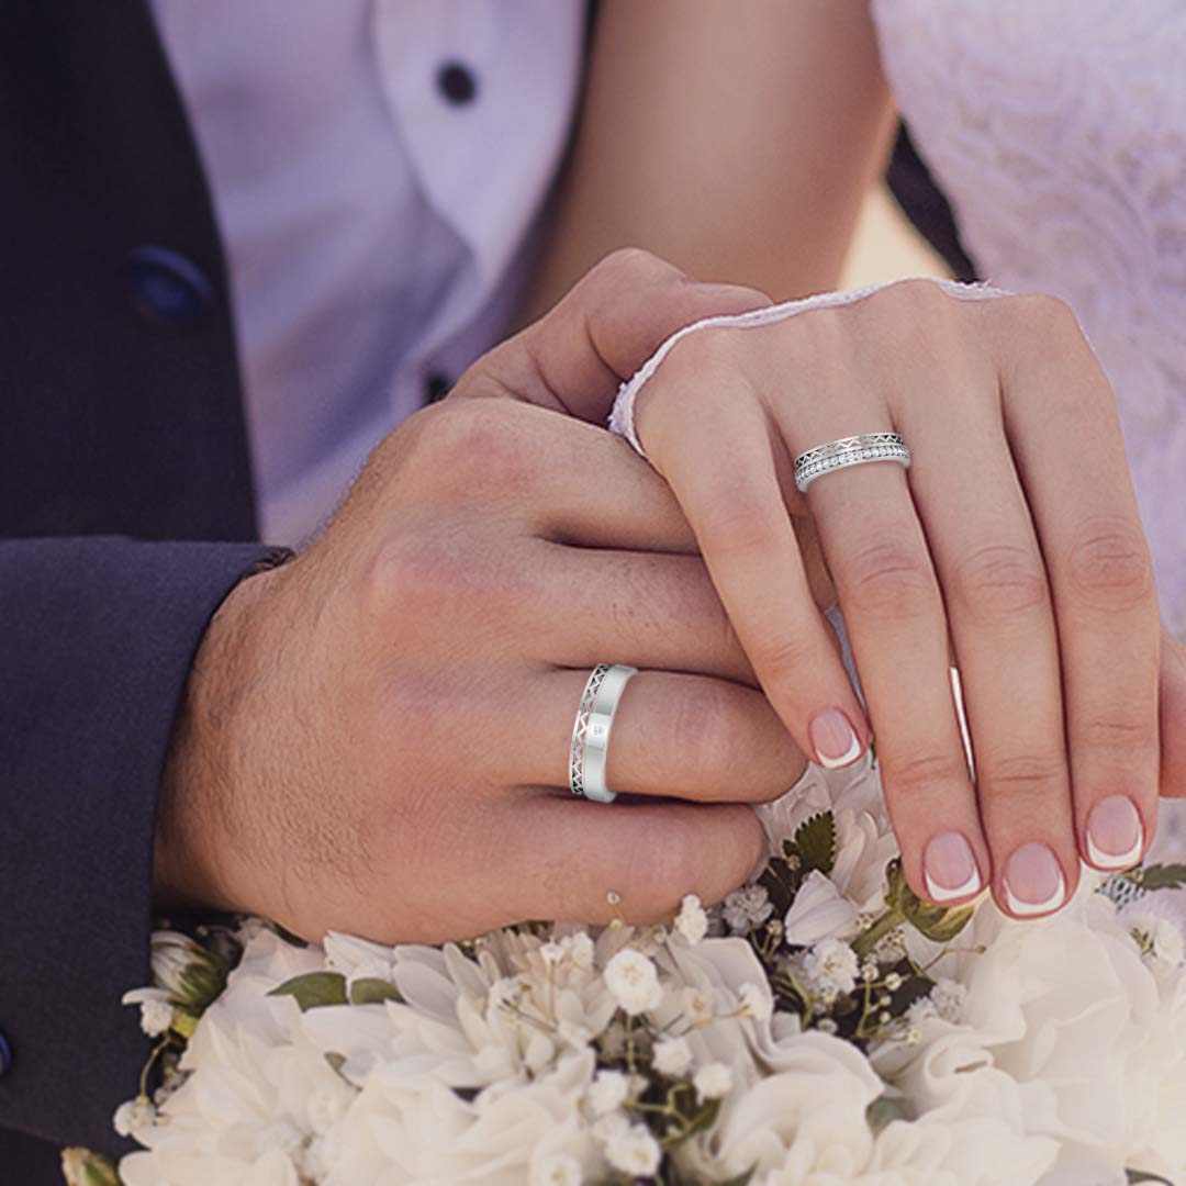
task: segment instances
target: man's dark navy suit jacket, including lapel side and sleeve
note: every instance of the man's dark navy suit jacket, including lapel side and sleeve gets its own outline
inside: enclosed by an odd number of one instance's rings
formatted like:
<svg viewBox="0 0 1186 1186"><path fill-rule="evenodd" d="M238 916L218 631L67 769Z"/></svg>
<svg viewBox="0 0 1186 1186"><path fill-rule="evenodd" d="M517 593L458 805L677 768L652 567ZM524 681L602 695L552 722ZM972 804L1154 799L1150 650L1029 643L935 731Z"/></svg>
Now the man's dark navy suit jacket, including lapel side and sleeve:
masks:
<svg viewBox="0 0 1186 1186"><path fill-rule="evenodd" d="M970 275L908 148L891 180ZM0 160L0 1186L40 1186L63 1144L122 1148L165 750L206 623L270 549L145 0L5 0Z"/></svg>

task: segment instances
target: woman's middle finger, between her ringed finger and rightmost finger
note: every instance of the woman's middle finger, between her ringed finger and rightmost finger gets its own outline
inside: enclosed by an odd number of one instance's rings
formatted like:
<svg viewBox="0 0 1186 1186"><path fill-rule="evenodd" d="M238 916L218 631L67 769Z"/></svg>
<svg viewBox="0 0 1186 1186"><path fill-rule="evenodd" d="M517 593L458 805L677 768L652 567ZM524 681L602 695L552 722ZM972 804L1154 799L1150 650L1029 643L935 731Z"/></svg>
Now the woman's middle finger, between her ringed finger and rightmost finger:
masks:
<svg viewBox="0 0 1186 1186"><path fill-rule="evenodd" d="M945 377L935 398L907 398L937 380L933 362L922 363L906 361L893 376L903 397L890 400L946 607L996 898L1015 916L1050 913L1073 891L1079 862L1042 554L995 374L969 369Z"/></svg>

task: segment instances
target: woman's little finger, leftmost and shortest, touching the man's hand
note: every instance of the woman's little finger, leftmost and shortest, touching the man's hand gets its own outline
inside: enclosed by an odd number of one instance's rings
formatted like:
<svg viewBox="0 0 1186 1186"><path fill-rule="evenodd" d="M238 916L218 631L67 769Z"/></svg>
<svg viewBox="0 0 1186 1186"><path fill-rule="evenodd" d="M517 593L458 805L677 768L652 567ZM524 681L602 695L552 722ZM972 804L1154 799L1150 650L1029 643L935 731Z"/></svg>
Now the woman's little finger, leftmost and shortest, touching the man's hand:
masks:
<svg viewBox="0 0 1186 1186"><path fill-rule="evenodd" d="M865 752L871 731L811 597L765 410L734 359L713 353L712 337L671 352L651 381L668 397L644 393L639 432L774 710L804 753L844 766Z"/></svg>

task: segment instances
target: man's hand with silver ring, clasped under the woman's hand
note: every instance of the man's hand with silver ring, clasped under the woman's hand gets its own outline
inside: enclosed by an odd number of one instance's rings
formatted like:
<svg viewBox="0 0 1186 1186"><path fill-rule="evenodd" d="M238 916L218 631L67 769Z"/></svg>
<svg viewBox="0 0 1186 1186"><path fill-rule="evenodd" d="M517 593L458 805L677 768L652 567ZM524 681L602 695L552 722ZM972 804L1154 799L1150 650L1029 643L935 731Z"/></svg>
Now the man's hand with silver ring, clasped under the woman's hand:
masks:
<svg viewBox="0 0 1186 1186"><path fill-rule="evenodd" d="M538 404L607 400L674 329L753 300L611 259L396 429L306 554L238 586L178 721L164 903L440 942L653 920L746 878L763 853L746 803L805 759L667 484ZM599 662L640 669L607 773L637 798L611 804L567 789Z"/></svg>

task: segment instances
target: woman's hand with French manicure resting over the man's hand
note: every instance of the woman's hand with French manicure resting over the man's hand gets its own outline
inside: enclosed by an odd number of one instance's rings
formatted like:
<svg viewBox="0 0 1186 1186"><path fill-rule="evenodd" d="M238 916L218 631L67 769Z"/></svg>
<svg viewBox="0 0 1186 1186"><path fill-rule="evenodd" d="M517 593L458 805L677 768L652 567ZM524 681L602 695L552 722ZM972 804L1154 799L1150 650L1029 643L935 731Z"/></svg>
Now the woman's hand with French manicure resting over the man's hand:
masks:
<svg viewBox="0 0 1186 1186"><path fill-rule="evenodd" d="M1002 908L1033 916L1073 892L1077 856L1140 860L1159 677L1180 713L1182 661L1174 644L1162 669L1112 393L1064 304L907 281L760 329L700 330L639 391L636 428L771 703L830 766L854 760L869 727L817 608L822 561L916 891L962 901L991 882ZM797 454L873 432L903 435L908 474L857 465L798 492ZM1166 764L1179 795L1182 757Z"/></svg>

